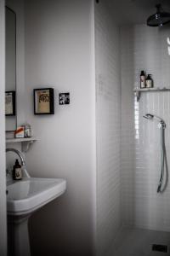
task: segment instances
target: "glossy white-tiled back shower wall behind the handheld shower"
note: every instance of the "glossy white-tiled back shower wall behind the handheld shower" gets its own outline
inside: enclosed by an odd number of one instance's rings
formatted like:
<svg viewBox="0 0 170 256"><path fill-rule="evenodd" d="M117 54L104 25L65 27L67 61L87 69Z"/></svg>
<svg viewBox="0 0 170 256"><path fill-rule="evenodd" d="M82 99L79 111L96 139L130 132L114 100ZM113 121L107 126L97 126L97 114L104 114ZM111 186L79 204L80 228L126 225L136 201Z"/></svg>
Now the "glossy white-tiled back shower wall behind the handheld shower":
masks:
<svg viewBox="0 0 170 256"><path fill-rule="evenodd" d="M139 73L153 74L155 87L170 88L170 30L145 25L122 27L122 212L123 224L170 230L170 184L156 193L161 175L160 130L154 113L167 123L167 162L170 170L170 92L142 93L134 101Z"/></svg>

